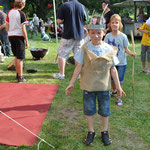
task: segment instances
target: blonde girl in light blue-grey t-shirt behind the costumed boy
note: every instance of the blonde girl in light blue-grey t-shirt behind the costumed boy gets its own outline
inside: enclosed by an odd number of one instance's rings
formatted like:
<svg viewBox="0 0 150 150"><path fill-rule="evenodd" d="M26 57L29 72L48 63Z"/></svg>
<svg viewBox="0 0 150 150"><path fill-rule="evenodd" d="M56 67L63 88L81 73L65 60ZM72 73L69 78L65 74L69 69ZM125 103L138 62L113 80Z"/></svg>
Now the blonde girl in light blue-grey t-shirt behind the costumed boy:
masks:
<svg viewBox="0 0 150 150"><path fill-rule="evenodd" d="M117 57L119 59L119 64L116 65L118 76L120 80L120 84L122 86L124 81L124 75L126 71L126 65L127 65L127 58L126 53L135 58L135 53L132 53L128 49L129 41L127 36L121 32L122 29L122 23L121 23L121 17L118 14L114 14L110 18L110 23L108 25L109 30L111 31L105 36L104 41L110 45L118 47ZM117 89L115 86L114 81L112 80L112 96L115 96L117 94ZM121 100L121 96L117 95L117 101L118 106L123 105L123 102Z"/></svg>

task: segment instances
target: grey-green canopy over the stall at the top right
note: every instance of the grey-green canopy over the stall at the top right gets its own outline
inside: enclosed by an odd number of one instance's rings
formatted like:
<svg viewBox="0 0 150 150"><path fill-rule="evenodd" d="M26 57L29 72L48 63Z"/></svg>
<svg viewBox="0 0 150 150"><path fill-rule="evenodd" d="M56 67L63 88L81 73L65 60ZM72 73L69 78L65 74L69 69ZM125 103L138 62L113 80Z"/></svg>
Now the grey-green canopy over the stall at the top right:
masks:
<svg viewBox="0 0 150 150"><path fill-rule="evenodd" d="M150 0L126 0L120 3L113 4L113 7L133 7L133 6L150 6Z"/></svg>

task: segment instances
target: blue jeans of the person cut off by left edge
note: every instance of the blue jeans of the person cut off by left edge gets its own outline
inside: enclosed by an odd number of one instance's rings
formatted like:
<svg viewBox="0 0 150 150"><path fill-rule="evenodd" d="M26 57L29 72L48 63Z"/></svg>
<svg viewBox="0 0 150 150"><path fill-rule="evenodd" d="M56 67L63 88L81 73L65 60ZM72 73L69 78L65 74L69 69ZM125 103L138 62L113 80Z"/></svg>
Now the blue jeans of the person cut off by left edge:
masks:
<svg viewBox="0 0 150 150"><path fill-rule="evenodd" d="M9 44L9 40L8 40L8 35L7 34L0 34L0 40L3 43L4 46L4 53L6 54L6 56L10 56L11 52L10 52L10 44Z"/></svg>

